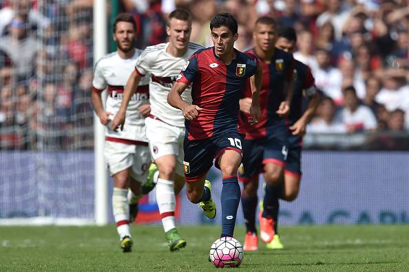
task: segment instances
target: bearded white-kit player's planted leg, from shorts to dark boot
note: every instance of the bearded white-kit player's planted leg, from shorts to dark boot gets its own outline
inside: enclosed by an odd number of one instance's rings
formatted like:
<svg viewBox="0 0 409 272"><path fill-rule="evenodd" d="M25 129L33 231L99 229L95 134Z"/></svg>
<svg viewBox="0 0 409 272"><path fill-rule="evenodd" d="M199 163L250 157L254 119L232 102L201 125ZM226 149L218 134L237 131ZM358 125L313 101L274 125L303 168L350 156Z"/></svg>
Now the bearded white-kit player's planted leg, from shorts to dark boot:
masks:
<svg viewBox="0 0 409 272"><path fill-rule="evenodd" d="M124 252L129 252L132 249L127 195L134 148L132 145L105 141L105 159L108 163L109 174L114 179L112 210L114 212L116 229L121 241L120 247Z"/></svg>

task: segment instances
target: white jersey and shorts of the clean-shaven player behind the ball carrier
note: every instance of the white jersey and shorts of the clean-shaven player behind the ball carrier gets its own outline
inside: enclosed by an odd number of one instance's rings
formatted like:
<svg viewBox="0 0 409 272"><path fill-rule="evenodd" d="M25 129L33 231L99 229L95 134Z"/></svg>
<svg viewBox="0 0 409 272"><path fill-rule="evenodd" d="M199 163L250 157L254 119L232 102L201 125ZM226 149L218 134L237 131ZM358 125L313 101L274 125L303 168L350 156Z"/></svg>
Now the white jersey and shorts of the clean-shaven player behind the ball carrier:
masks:
<svg viewBox="0 0 409 272"><path fill-rule="evenodd" d="M182 176L185 117L180 109L167 103L167 95L190 56L204 47L189 43L184 56L174 57L166 52L168 46L169 43L160 43L147 47L136 60L135 69L140 76L151 74L149 82L151 115L145 120L151 155L154 159L164 155L175 155L176 173ZM191 104L191 87L188 87L181 97Z"/></svg>

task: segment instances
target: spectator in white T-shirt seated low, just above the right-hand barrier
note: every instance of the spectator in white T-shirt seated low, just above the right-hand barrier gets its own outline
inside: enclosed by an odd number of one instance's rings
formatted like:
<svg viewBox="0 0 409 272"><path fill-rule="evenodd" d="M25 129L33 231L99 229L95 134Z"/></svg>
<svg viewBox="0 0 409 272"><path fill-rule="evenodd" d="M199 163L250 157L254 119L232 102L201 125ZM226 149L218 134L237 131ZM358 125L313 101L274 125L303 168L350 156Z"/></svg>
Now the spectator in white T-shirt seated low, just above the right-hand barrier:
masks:
<svg viewBox="0 0 409 272"><path fill-rule="evenodd" d="M340 112L341 120L349 133L357 131L375 131L377 120L368 106L359 104L357 93L353 86L346 87L344 94L344 109Z"/></svg>

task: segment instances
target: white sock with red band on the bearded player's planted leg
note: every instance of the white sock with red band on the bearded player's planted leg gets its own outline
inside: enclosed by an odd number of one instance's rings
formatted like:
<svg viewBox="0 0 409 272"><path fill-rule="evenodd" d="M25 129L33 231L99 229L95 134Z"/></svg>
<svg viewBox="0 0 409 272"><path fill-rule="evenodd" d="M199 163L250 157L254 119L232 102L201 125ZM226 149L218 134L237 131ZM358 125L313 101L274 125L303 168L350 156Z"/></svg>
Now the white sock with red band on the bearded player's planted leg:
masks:
<svg viewBox="0 0 409 272"><path fill-rule="evenodd" d="M128 189L115 188L112 193L112 209L114 211L114 219L116 223L116 230L119 237L131 237L129 231L129 203L128 203Z"/></svg>

